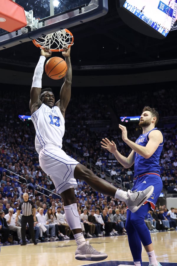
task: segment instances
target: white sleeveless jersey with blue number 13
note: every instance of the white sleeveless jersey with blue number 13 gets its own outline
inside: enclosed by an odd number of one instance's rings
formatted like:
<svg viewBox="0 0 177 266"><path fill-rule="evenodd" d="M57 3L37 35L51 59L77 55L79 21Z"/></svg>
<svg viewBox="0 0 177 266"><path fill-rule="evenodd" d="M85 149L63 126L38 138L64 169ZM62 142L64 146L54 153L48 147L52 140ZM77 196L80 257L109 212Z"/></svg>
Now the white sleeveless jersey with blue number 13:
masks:
<svg viewBox="0 0 177 266"><path fill-rule="evenodd" d="M65 119L58 106L50 108L42 103L32 114L31 120L36 130L35 149L38 154L45 145L57 145L62 148Z"/></svg>

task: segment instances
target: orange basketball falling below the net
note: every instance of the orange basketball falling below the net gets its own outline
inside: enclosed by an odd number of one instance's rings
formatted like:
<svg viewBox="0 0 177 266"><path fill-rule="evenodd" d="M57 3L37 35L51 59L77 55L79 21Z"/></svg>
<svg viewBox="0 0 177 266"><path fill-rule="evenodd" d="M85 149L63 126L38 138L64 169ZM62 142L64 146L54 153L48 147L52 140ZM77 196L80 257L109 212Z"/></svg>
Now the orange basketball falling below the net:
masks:
<svg viewBox="0 0 177 266"><path fill-rule="evenodd" d="M67 64L61 57L51 57L45 64L45 73L53 80L60 80L63 78L67 70Z"/></svg>

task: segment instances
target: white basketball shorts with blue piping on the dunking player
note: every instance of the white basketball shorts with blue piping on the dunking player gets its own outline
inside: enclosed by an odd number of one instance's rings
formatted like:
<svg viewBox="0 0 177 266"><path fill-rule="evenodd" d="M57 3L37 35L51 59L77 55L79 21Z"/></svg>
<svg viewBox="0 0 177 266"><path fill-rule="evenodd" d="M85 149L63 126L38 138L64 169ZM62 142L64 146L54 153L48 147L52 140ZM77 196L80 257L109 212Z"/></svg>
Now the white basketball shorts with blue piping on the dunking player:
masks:
<svg viewBox="0 0 177 266"><path fill-rule="evenodd" d="M74 169L79 163L68 156L59 146L45 145L39 153L42 170L52 179L58 194L78 186L74 178Z"/></svg>

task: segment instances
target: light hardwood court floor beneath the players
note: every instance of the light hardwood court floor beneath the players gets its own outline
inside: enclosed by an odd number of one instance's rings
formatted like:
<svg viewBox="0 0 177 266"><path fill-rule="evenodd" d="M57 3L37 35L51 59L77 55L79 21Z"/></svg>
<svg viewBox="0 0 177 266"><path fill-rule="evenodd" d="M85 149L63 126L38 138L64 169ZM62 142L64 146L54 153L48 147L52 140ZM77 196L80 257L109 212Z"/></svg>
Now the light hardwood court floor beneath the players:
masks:
<svg viewBox="0 0 177 266"><path fill-rule="evenodd" d="M177 266L177 231L151 233L157 260L163 266ZM127 265L132 263L132 255L127 235L89 238L90 244L101 252L108 254L104 261L79 261L75 259L75 240L39 242L26 246L1 246L0 265L3 266L82 266L82 265ZM148 265L148 257L142 247L143 266ZM171 262L171 263L169 263Z"/></svg>

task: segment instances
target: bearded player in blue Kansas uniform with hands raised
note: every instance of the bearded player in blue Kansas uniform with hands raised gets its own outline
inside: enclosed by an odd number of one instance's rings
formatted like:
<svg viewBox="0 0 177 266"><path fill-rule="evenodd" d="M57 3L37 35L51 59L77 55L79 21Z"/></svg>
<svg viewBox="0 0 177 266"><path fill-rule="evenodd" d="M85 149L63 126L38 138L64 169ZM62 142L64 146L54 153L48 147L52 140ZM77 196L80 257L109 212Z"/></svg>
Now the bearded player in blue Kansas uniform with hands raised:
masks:
<svg viewBox="0 0 177 266"><path fill-rule="evenodd" d="M149 106L144 107L139 122L139 126L142 127L142 134L135 143L128 139L126 127L119 125L119 128L122 130L122 140L132 148L132 152L127 158L118 152L116 144L113 141L110 142L107 138L101 141L101 147L113 153L119 163L125 168L129 168L135 163L135 182L132 190L145 189L149 184L154 185L153 194L139 210L135 213L127 210L125 228L136 266L142 266L141 242L148 254L149 266L161 266L156 260L150 233L144 221L148 211L155 208L163 187L160 177L159 159L163 149L164 134L160 129L155 127L158 119L158 112L154 108L150 108Z"/></svg>

